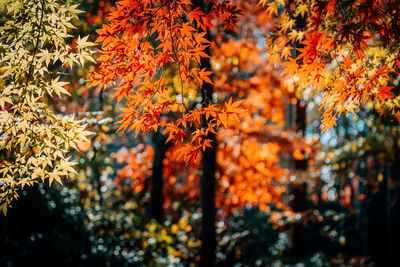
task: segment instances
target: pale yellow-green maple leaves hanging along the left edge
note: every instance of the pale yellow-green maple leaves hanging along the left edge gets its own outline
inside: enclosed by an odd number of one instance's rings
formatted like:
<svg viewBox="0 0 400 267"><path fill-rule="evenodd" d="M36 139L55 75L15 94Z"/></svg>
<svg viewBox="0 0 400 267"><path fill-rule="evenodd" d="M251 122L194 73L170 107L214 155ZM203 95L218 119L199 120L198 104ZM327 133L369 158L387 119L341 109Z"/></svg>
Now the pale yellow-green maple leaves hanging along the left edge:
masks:
<svg viewBox="0 0 400 267"><path fill-rule="evenodd" d="M0 1L0 210L25 186L75 173L68 150L90 134L73 116L52 112L46 99L68 95L55 70L93 61L87 37L66 43L80 11L72 1ZM57 69L57 70L63 70Z"/></svg>

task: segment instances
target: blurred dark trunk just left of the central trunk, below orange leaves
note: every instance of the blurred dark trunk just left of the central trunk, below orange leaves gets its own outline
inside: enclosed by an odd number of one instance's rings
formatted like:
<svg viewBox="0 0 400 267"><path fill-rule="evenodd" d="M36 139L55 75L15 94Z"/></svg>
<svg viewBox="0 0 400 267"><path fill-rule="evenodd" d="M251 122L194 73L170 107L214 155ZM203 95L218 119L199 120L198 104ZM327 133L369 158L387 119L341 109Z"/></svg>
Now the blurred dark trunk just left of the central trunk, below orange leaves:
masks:
<svg viewBox="0 0 400 267"><path fill-rule="evenodd" d="M160 133L156 132L153 135L153 174L151 177L151 203L150 203L150 218L155 219L157 222L163 221L163 160L167 145L165 144L166 138Z"/></svg>

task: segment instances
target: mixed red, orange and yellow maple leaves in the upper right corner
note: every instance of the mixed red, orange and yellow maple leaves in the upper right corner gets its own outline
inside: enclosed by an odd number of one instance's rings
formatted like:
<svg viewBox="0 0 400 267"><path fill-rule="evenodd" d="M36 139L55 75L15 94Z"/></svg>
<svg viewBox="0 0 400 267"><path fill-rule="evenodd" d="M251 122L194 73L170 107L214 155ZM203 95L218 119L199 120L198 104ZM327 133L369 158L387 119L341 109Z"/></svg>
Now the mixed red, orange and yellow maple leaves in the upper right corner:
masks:
<svg viewBox="0 0 400 267"><path fill-rule="evenodd" d="M281 63L299 91L323 93L323 131L365 103L400 118L390 92L400 68L399 1L261 2L275 25L269 61Z"/></svg>

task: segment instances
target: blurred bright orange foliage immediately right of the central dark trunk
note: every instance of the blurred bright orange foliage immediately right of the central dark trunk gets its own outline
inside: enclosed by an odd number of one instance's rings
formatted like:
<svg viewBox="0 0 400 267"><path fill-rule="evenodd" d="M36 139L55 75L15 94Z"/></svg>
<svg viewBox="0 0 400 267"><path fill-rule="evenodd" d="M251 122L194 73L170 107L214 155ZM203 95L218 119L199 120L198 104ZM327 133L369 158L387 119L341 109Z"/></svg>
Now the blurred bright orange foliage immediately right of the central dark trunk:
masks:
<svg viewBox="0 0 400 267"><path fill-rule="evenodd" d="M255 30L266 28L262 10L257 13L259 7L244 5L254 10L253 16L261 16L253 26ZM250 22L244 17L242 23L246 27ZM214 60L219 64L216 90L221 95L245 98L241 104L245 110L238 115L239 120L221 129L217 136L216 205L228 211L248 204L264 211L269 211L271 204L287 209L282 194L291 172L285 168L285 161L290 155L302 160L314 152L312 144L298 138L293 128L285 125L287 103L294 96L279 79L280 73L261 60L265 47L258 47L257 43L257 39L244 35L238 41L213 47ZM242 78L243 73L253 76Z"/></svg>

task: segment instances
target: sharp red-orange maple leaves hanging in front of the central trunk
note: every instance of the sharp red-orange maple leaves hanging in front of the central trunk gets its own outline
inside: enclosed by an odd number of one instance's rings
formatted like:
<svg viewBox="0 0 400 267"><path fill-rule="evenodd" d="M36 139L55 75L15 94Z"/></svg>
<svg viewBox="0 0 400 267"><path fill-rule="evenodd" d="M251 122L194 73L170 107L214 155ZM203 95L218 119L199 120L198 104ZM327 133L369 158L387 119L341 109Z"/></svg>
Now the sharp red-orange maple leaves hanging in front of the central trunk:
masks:
<svg viewBox="0 0 400 267"><path fill-rule="evenodd" d="M90 81L100 90L114 85L114 97L118 102L126 100L119 129L138 134L163 127L168 141L184 143L180 155L186 162L198 160L200 151L211 146L209 132L226 126L241 112L238 102L193 109L184 99L189 83L198 85L198 94L203 83L212 84L212 71L200 67L201 59L209 58L206 34L212 21L233 27L240 13L225 1L213 2L213 9L205 14L190 0L121 0L107 17L110 23L97 31L100 67ZM178 88L170 82L175 77ZM182 114L172 112L177 104Z"/></svg>

